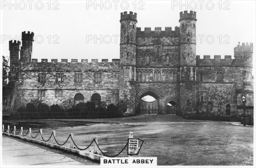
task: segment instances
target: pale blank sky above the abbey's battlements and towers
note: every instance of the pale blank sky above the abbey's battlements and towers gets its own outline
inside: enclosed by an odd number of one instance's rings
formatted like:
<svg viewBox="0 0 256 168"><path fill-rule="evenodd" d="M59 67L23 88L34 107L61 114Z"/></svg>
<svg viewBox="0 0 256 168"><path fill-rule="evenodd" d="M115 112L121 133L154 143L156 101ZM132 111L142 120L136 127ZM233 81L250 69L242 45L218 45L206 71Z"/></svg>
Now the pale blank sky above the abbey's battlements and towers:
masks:
<svg viewBox="0 0 256 168"><path fill-rule="evenodd" d="M9 40L33 31L32 59L119 59L120 13L137 13L137 27L179 26L180 11L196 11L196 55L231 55L238 42L254 43L256 2L229 1L1 1L1 54L9 56ZM7 3L7 4L6 4ZM43 6L41 4L43 3ZM25 6L26 5L26 6ZM31 6L30 6L31 5ZM17 9L15 9L17 7ZM31 9L30 9L31 8ZM200 36L202 39L200 39ZM206 38L207 37L207 38ZM98 40L94 40L98 38ZM101 40L102 39L102 42ZM208 41L207 41L208 40ZM254 66L255 67L255 66Z"/></svg>

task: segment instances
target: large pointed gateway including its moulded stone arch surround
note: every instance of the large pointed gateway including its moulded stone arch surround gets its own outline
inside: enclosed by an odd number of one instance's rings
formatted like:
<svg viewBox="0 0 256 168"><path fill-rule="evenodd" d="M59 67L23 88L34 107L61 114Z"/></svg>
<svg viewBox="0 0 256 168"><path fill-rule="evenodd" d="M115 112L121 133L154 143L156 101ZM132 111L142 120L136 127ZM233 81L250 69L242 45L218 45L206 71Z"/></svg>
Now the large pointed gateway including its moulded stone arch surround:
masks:
<svg viewBox="0 0 256 168"><path fill-rule="evenodd" d="M162 96L158 90L151 87L141 90L136 96L137 113L158 114Z"/></svg>

